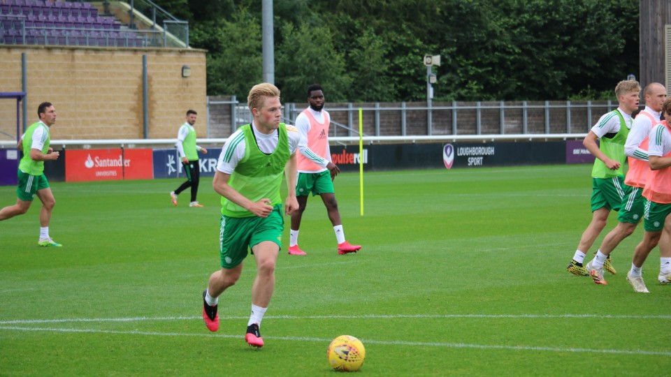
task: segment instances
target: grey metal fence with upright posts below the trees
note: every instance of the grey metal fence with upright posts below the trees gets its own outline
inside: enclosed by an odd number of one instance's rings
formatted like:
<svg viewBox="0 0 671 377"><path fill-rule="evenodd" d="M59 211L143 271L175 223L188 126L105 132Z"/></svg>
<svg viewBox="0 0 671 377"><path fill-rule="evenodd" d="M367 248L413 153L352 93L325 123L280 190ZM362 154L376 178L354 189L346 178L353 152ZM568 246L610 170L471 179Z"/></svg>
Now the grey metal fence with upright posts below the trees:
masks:
<svg viewBox="0 0 671 377"><path fill-rule="evenodd" d="M283 121L293 124L307 104L284 103ZM520 101L432 103L326 103L330 136L519 135L587 133L613 101ZM226 138L250 123L235 96L208 97L208 138ZM431 114L431 117L428 114Z"/></svg>

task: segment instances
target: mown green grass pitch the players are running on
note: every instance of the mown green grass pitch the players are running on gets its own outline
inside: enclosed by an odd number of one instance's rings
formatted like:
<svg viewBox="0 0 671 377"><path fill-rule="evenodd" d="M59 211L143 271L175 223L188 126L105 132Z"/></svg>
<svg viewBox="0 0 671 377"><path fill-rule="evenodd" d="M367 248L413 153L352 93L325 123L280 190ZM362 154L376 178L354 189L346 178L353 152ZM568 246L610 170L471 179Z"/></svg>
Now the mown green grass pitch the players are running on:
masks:
<svg viewBox="0 0 671 377"><path fill-rule="evenodd" d="M52 184L40 248L39 202L0 223L2 376L333 376L326 347L366 346L365 376L661 376L671 368L671 286L644 267L649 295L625 281L642 227L612 258L607 286L565 266L591 219L590 165L367 173L335 180L347 239L338 256L319 198L308 201L261 334L244 341L253 258L219 299L221 326L201 319L219 268L219 197L202 179L173 207L181 179ZM0 205L15 188L0 187ZM616 224L611 216L607 230ZM605 232L591 251L596 251Z"/></svg>

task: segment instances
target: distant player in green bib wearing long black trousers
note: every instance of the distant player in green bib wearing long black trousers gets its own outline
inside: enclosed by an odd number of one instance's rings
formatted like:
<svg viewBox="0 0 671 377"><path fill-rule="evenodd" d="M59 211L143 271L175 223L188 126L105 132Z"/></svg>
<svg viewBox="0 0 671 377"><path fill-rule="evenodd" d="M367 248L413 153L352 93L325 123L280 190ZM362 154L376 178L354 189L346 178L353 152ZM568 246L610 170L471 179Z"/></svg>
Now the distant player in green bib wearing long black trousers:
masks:
<svg viewBox="0 0 671 377"><path fill-rule="evenodd" d="M201 177L201 165L198 160L198 151L208 153L208 150L196 145L196 117L198 113L194 110L187 111L187 121L182 124L177 133L177 150L182 158L182 168L187 175L187 182L181 184L175 191L170 192L170 198L173 205L177 205L177 195L191 187L191 202L189 207L203 207L196 196L198 195L198 185Z"/></svg>

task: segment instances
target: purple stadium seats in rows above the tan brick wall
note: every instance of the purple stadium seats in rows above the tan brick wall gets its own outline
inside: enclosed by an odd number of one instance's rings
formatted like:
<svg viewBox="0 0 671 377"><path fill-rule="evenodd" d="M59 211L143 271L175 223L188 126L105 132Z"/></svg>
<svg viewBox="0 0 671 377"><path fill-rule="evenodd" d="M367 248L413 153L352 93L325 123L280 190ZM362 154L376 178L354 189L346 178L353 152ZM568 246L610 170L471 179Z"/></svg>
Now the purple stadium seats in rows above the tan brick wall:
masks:
<svg viewBox="0 0 671 377"><path fill-rule="evenodd" d="M0 44L143 47L146 41L92 3L0 0Z"/></svg>

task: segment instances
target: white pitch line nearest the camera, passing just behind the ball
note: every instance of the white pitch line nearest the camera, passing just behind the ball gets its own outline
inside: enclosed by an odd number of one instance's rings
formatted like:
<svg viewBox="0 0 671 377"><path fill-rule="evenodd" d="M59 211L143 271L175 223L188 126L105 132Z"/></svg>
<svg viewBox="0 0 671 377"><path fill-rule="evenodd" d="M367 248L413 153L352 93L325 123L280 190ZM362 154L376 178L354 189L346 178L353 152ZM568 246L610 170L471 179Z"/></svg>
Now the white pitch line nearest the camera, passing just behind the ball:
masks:
<svg viewBox="0 0 671 377"><path fill-rule="evenodd" d="M80 332L80 333L94 333L94 334L122 334L122 335L152 335L161 337L217 337L217 338L238 338L242 339L241 335L231 334L182 334L179 332L142 332L142 331L118 331L118 330L90 330L90 329L50 329L50 328L35 328L35 327L0 327L0 330L15 330L15 331L51 331L51 332ZM320 343L328 343L332 339L321 338L305 338L305 337L264 337L268 340L280 341L317 341ZM503 346L496 344L467 344L467 343L441 343L441 342L420 342L420 341L375 341L370 339L361 339L366 344L382 344L392 346L427 346L427 347L445 347L445 348L479 348L479 349L500 349L500 350L533 350L533 351L550 351L550 352L575 352L575 353L612 353L623 355L653 355L653 356L671 356L671 352L665 351L647 351L647 350L597 350L589 348L555 348L555 347L533 347L533 346Z"/></svg>

